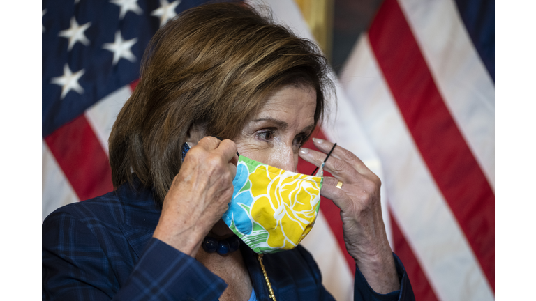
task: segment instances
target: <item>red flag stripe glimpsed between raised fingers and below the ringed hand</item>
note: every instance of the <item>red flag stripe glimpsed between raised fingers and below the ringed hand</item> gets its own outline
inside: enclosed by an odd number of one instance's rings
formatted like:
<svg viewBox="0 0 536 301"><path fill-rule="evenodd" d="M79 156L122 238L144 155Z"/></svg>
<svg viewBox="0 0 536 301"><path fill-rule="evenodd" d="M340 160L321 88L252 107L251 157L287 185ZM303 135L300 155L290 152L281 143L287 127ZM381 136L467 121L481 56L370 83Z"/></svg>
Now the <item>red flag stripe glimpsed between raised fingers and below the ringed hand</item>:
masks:
<svg viewBox="0 0 536 301"><path fill-rule="evenodd" d="M313 137L320 138L320 139L326 139L324 136L324 133L320 129L316 129L315 133L313 133ZM304 145L306 148L310 148L313 150L318 151L318 148L315 147L313 144L313 140L310 139L307 141L307 143ZM298 172L304 173L304 174L311 174L313 173L315 169L315 166L311 163L308 163L304 160L301 160L299 158L298 160ZM324 172L324 176L332 176L327 171ZM348 263L348 267L350 268L350 271L353 275L355 275L355 261L350 254L346 251L346 245L344 243L344 236L343 236L343 221L341 220L341 209L339 209L332 200L326 199L324 196L322 196L320 200L320 210L322 211L322 215L324 215L327 224L329 224L329 228L332 229L332 233L335 236L335 239L338 242L338 247L341 248L341 251L343 252L346 262Z"/></svg>

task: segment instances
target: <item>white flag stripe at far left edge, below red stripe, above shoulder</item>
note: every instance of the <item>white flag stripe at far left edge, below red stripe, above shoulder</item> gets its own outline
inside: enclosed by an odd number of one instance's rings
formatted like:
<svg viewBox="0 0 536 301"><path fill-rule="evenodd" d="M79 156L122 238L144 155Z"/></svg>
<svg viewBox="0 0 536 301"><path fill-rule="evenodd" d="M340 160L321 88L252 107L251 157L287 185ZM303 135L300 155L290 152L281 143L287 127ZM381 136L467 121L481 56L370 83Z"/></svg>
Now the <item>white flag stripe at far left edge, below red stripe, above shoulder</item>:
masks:
<svg viewBox="0 0 536 301"><path fill-rule="evenodd" d="M73 187L70 186L69 181L64 175L64 172L61 171L56 159L50 150L46 142L41 141L43 145L42 151L42 221L45 220L45 217L50 215L52 211L57 208L67 205L68 203L74 203L80 201L76 195Z"/></svg>

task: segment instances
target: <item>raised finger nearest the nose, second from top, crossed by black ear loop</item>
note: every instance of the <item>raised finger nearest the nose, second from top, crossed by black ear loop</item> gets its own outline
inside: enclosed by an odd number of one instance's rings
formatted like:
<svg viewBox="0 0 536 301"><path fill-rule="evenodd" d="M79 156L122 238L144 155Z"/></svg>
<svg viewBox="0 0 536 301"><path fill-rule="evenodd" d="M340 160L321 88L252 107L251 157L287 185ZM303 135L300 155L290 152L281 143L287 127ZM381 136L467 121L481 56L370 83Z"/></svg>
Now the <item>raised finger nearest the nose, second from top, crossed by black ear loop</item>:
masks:
<svg viewBox="0 0 536 301"><path fill-rule="evenodd" d="M322 162L326 158L325 153L320 153L318 151L313 151L309 148L300 148L299 156L301 159L306 160L309 163L315 164L315 166L320 167ZM357 172L350 164L339 160L336 157L329 157L324 165L324 170L332 173L336 178L340 178L345 182L354 183L356 180L359 180L363 177L362 174Z"/></svg>

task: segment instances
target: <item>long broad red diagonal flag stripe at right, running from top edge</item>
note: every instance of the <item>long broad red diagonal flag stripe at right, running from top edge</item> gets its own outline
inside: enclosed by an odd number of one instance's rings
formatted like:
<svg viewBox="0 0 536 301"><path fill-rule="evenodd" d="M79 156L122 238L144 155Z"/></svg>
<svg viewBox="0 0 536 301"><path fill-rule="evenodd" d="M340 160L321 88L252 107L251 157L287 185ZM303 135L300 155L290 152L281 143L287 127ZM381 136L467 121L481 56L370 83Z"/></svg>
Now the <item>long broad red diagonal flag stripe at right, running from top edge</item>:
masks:
<svg viewBox="0 0 536 301"><path fill-rule="evenodd" d="M397 1L382 4L368 38L415 144L494 290L495 195L449 114Z"/></svg>

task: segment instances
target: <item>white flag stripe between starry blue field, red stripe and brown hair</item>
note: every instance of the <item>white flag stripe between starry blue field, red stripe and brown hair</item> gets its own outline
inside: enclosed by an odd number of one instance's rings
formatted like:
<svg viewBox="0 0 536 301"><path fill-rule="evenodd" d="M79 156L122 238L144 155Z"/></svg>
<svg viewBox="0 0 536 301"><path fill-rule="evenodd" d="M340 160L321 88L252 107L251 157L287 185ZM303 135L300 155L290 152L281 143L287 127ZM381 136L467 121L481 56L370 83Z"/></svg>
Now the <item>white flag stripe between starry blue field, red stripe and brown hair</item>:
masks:
<svg viewBox="0 0 536 301"><path fill-rule="evenodd" d="M107 95L84 112L98 141L101 142L106 155L108 155L108 137L110 137L110 133L112 132L112 126L117 118L117 114L119 114L119 111L121 111L121 108L131 94L131 86L126 85L110 93L110 95Z"/></svg>

